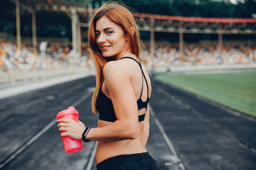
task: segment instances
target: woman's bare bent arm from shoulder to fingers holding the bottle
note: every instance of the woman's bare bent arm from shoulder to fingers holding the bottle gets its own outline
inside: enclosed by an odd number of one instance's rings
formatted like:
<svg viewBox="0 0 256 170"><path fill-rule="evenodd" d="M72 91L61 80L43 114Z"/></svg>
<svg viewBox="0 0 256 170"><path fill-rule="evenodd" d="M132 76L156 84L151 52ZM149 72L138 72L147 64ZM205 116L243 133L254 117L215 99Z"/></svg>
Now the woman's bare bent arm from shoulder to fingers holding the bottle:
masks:
<svg viewBox="0 0 256 170"><path fill-rule="evenodd" d="M117 121L101 128L91 128L86 135L86 139L91 141L135 139L139 133L137 101L130 76L127 71L124 71L124 66L115 64L115 62L108 62L104 66L103 75L104 86L112 100ZM59 119L59 122L61 121L67 120ZM68 121L58 125L60 131L66 131L61 133L61 137L70 136L81 139L85 126ZM71 130L71 127L76 130Z"/></svg>

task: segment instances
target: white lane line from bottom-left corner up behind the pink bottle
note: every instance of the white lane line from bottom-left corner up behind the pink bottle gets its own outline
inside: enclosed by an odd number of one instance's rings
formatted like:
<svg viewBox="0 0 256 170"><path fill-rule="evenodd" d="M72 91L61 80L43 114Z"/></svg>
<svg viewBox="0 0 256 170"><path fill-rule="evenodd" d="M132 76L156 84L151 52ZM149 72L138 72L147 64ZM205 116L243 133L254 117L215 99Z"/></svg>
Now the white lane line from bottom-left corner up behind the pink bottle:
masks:
<svg viewBox="0 0 256 170"><path fill-rule="evenodd" d="M84 99L86 99L91 93L86 93L83 95L80 99L78 99L74 104L71 106L76 107L81 102L83 102ZM13 160L17 155L19 155L23 150L25 150L29 145L31 145L36 139L38 139L40 136L42 136L49 128L51 128L54 124L56 124L56 118L54 118L47 126L45 126L40 132L38 132L34 137L32 137L25 145L23 145L20 149L18 149L16 152L14 152L4 163L0 165L0 169L4 167L7 163L9 163L11 160Z"/></svg>

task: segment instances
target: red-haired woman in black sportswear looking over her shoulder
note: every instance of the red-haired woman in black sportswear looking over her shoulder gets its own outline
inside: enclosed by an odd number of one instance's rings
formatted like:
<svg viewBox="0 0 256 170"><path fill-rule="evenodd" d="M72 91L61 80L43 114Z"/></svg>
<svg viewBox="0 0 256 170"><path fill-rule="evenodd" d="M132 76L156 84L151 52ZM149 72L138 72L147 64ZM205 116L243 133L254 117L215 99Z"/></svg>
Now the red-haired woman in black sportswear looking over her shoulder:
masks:
<svg viewBox="0 0 256 170"><path fill-rule="evenodd" d="M124 5L106 3L94 14L88 39L96 66L92 111L97 128L58 119L61 137L99 141L98 170L159 170L146 151L149 135L150 77L141 65L141 41L135 20Z"/></svg>

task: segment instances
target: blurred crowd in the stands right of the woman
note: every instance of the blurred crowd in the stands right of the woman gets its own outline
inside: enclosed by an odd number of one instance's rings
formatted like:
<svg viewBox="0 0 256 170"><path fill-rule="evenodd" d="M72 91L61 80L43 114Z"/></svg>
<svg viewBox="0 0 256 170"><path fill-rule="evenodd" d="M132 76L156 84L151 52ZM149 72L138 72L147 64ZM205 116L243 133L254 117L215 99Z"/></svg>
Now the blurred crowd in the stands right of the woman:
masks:
<svg viewBox="0 0 256 170"><path fill-rule="evenodd" d="M256 43L184 44L180 53L178 44L158 45L147 58L152 67L233 65L256 63Z"/></svg>

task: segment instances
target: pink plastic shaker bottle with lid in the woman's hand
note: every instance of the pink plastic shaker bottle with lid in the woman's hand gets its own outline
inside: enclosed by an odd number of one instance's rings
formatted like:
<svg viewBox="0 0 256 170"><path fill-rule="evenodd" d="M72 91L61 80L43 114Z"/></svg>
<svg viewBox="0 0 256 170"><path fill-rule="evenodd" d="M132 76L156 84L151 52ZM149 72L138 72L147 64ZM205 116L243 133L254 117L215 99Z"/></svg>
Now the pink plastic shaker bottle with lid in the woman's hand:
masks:
<svg viewBox="0 0 256 170"><path fill-rule="evenodd" d="M78 122L78 111L73 107L68 107L67 110L62 110L57 114L57 119L67 118ZM81 140L74 139L72 137L63 137L63 145L66 153L78 152L83 149L83 143Z"/></svg>

